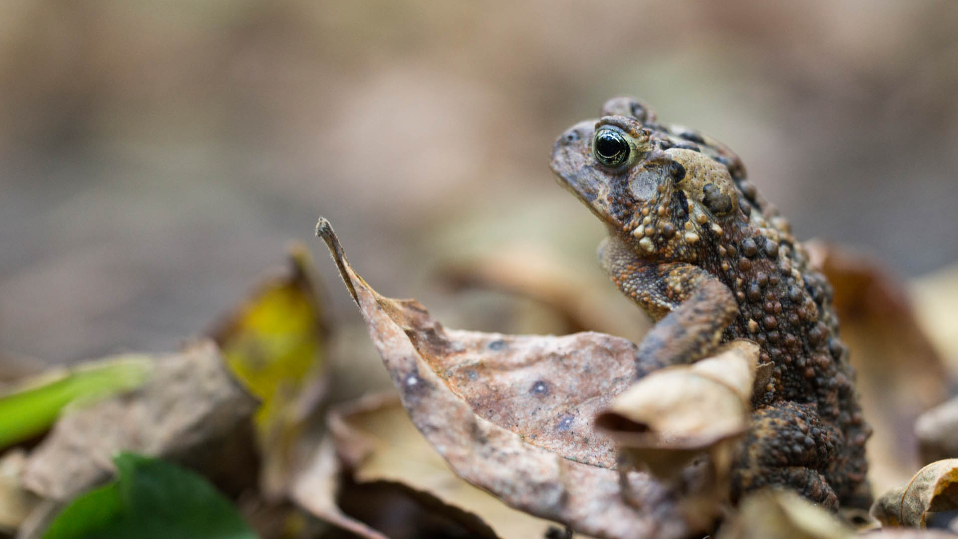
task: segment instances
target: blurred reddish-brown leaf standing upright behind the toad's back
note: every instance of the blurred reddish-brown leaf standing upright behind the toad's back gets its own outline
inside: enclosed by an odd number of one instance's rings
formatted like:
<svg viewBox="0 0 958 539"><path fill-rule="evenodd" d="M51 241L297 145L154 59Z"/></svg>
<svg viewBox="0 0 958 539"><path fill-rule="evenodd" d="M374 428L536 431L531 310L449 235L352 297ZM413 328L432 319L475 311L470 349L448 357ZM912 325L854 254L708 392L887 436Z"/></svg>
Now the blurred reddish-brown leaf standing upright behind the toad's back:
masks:
<svg viewBox="0 0 958 539"><path fill-rule="evenodd" d="M947 371L907 290L877 261L822 243L809 250L834 287L841 339L851 349L855 386L875 430L867 446L869 480L882 492L924 464L911 425L947 398Z"/></svg>

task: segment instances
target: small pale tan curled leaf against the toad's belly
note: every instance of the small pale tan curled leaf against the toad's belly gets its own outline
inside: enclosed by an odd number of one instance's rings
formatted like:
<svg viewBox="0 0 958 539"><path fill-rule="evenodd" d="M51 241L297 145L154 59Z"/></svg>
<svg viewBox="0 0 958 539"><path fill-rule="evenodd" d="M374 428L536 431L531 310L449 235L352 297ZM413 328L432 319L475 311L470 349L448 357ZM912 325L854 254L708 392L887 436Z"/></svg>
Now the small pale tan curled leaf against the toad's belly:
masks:
<svg viewBox="0 0 958 539"><path fill-rule="evenodd" d="M706 452L716 475L727 477L748 426L758 358L758 344L736 340L712 358L652 372L616 397L597 425L657 477L673 478Z"/></svg>

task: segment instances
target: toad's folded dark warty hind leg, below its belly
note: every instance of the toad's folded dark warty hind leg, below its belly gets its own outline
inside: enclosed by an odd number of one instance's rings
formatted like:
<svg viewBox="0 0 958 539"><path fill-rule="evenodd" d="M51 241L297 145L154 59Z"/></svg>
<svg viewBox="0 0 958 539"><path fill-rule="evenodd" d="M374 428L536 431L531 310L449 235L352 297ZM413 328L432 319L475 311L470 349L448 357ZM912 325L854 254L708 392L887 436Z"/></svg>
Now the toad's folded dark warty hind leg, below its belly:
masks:
<svg viewBox="0 0 958 539"><path fill-rule="evenodd" d="M825 480L841 434L819 421L814 405L781 402L752 413L732 471L732 501L764 486L783 486L828 508L838 498Z"/></svg>

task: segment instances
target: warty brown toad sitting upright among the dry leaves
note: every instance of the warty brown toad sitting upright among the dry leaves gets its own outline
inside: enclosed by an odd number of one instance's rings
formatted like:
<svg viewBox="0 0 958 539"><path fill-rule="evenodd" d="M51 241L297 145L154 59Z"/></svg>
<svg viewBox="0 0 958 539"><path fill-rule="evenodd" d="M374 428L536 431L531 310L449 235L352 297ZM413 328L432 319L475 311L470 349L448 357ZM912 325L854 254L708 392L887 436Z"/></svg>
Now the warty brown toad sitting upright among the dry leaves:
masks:
<svg viewBox="0 0 958 539"><path fill-rule="evenodd" d="M787 486L830 508L867 506L871 428L838 336L833 289L738 155L695 130L660 124L619 97L559 136L552 170L608 229L599 259L654 321L636 377L692 363L737 339L772 363L752 396L732 501Z"/></svg>

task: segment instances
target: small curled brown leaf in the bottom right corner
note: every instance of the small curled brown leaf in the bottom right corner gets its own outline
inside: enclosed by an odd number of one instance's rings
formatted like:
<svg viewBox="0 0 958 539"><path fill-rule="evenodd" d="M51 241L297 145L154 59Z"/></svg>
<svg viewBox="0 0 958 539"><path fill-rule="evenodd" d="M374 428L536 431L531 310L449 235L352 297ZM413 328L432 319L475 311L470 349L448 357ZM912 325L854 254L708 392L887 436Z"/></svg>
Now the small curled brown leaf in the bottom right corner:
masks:
<svg viewBox="0 0 958 539"><path fill-rule="evenodd" d="M904 486L881 495L872 516L883 526L924 527L929 512L958 509L958 458L932 462Z"/></svg>

